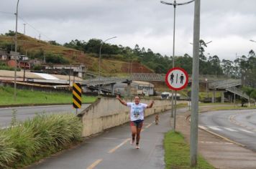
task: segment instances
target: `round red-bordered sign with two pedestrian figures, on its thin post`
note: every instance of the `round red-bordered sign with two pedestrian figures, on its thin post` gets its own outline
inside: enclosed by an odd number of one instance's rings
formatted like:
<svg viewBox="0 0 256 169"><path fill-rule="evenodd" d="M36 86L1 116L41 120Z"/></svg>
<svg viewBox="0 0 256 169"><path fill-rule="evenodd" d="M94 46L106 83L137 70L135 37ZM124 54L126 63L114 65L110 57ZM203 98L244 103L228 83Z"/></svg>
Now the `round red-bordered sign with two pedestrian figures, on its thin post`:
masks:
<svg viewBox="0 0 256 169"><path fill-rule="evenodd" d="M165 74L165 83L170 88L170 90L175 90L175 106L172 107L172 109L175 108L173 124L173 129L175 131L177 91L183 90L188 85L188 73L186 70L180 67L173 67L172 69L169 69L167 74Z"/></svg>

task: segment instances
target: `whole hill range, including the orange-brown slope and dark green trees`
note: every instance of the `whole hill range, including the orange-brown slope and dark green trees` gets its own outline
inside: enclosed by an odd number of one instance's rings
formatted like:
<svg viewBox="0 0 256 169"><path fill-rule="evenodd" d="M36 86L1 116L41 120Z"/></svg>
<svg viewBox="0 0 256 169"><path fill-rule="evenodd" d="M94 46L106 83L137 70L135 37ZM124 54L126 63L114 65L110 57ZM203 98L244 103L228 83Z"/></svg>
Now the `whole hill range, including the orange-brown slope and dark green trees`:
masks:
<svg viewBox="0 0 256 169"><path fill-rule="evenodd" d="M11 50L14 32L9 32L0 36L0 47ZM18 52L25 53L32 58L45 57L47 62L52 63L77 63L86 64L89 70L97 72L99 67L99 49L101 39L72 40L65 44L58 44L55 41L43 42L31 37L19 34ZM227 74L229 77L242 78L250 86L256 86L256 56L254 51L250 51L247 56L239 56L233 61L212 55L206 57L205 49L207 45L200 40L200 74ZM135 45L123 47L122 45L104 43L101 48L102 72L105 75L127 74L131 72L168 72L172 68L172 57L163 56L152 52L151 49ZM188 54L175 56L175 67L183 67L188 74L192 74L192 57Z"/></svg>

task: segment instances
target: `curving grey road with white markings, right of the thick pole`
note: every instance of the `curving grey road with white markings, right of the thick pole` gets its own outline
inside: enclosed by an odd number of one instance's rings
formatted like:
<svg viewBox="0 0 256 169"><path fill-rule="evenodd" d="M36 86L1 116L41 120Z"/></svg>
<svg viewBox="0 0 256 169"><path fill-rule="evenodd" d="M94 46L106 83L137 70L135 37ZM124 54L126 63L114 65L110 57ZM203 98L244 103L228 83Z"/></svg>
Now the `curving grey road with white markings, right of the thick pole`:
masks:
<svg viewBox="0 0 256 169"><path fill-rule="evenodd" d="M256 151L256 110L204 112L199 125Z"/></svg>

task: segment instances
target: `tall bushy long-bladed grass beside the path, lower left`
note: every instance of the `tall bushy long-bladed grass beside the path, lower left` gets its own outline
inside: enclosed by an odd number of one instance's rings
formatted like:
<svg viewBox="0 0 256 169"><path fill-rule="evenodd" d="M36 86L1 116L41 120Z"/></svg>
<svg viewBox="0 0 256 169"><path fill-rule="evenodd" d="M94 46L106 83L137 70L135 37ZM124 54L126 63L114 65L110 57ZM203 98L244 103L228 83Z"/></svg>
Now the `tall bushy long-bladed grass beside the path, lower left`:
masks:
<svg viewBox="0 0 256 169"><path fill-rule="evenodd" d="M82 122L73 114L12 123L0 130L0 168L22 168L81 141Z"/></svg>

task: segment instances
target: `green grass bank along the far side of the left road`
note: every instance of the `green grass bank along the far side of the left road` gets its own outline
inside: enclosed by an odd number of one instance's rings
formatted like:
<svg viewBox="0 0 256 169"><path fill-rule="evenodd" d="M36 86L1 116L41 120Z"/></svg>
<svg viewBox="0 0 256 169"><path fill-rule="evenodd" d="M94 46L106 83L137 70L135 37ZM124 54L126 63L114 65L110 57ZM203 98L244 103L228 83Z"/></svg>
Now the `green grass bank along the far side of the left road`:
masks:
<svg viewBox="0 0 256 169"><path fill-rule="evenodd" d="M0 105L42 105L42 104L72 104L72 93L39 92L17 90L17 101L14 101L13 87L0 87ZM94 102L96 97L84 96L83 103Z"/></svg>

